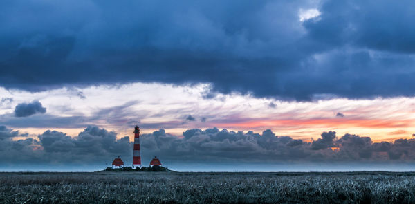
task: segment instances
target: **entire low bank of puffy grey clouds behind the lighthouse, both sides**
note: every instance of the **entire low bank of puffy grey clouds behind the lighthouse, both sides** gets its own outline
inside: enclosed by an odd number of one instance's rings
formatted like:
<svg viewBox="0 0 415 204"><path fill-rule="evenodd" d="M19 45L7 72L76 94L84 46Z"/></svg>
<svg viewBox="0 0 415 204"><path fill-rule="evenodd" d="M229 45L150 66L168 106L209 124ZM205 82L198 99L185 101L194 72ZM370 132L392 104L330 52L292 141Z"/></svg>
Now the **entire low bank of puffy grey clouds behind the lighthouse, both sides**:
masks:
<svg viewBox="0 0 415 204"><path fill-rule="evenodd" d="M16 136L26 139L12 140ZM117 138L117 133L95 126L87 127L75 137L50 130L34 139L27 137L27 134L0 126L2 163L103 165L121 156L128 165L132 158L133 143L127 136ZM179 163L413 161L415 158L415 139L374 143L369 137L351 134L335 139L333 131L322 133L322 138L314 142L276 136L270 130L260 134L217 128L189 129L182 137L160 129L140 138L143 158L158 156L163 161Z"/></svg>

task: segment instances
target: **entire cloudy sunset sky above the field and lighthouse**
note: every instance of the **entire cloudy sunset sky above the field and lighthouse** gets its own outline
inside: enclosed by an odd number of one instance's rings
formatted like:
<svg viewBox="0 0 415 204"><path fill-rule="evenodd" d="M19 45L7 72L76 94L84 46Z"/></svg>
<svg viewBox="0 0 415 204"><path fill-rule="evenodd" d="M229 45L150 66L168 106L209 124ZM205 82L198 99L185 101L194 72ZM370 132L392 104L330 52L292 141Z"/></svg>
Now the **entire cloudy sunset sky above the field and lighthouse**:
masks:
<svg viewBox="0 0 415 204"><path fill-rule="evenodd" d="M414 1L2 1L0 171L414 169Z"/></svg>

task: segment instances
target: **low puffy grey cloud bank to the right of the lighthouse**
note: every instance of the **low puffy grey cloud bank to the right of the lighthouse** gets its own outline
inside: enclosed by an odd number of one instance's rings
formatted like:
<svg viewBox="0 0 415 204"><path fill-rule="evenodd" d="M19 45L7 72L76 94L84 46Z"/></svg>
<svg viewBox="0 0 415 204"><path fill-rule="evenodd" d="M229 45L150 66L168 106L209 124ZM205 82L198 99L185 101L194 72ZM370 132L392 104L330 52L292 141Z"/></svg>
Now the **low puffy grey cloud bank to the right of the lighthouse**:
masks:
<svg viewBox="0 0 415 204"><path fill-rule="evenodd" d="M219 131L216 128L204 131L189 129L183 133L183 138L172 136L160 129L144 134L141 138L145 156L160 156L165 160L183 162L385 161L413 160L407 155L415 154L414 150L410 150L411 145L415 145L415 140L373 143L369 137L351 134L345 134L336 140L334 131L322 133L322 138L313 142L294 140L289 136L275 136L270 130L259 134L226 129ZM389 157L385 158L383 154L388 154Z"/></svg>

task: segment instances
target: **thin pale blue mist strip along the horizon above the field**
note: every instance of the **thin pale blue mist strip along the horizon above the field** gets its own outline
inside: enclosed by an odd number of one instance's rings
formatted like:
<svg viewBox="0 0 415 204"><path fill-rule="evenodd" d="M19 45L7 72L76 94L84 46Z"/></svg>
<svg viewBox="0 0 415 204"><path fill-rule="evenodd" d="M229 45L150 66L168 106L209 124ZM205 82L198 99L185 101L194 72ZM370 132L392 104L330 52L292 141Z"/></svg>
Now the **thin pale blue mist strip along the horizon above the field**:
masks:
<svg viewBox="0 0 415 204"><path fill-rule="evenodd" d="M109 167L107 164L87 165L5 165L1 171L57 171L57 172L94 172ZM130 161L131 163L131 161ZM149 163L149 162L148 162ZM144 166L149 166L143 163ZM169 163L163 165L181 172L343 172L343 171L414 171L413 163Z"/></svg>

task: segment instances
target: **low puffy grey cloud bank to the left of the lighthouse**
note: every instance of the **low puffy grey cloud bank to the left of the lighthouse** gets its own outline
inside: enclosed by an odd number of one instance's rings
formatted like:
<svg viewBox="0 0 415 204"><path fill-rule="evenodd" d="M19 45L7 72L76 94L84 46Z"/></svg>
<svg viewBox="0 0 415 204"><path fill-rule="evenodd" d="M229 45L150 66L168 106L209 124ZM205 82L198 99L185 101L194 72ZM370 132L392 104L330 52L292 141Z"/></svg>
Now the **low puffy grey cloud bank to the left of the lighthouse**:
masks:
<svg viewBox="0 0 415 204"><path fill-rule="evenodd" d="M48 130L35 139L11 140L18 136L18 132L0 127L1 161L7 165L104 165L116 156L126 158L130 154L132 143L129 138L117 139L116 135L98 127L87 127L74 138L66 133Z"/></svg>

